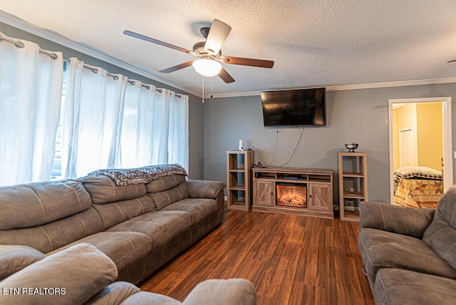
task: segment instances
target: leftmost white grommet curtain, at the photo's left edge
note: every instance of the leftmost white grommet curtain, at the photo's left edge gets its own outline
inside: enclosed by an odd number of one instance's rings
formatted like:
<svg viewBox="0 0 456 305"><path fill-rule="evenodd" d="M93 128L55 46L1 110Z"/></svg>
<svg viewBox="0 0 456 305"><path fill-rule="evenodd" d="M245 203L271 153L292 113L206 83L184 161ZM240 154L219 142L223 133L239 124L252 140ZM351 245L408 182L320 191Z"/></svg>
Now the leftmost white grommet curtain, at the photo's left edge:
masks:
<svg viewBox="0 0 456 305"><path fill-rule="evenodd" d="M62 53L10 39L23 47L0 41L0 185L50 179L61 108Z"/></svg>

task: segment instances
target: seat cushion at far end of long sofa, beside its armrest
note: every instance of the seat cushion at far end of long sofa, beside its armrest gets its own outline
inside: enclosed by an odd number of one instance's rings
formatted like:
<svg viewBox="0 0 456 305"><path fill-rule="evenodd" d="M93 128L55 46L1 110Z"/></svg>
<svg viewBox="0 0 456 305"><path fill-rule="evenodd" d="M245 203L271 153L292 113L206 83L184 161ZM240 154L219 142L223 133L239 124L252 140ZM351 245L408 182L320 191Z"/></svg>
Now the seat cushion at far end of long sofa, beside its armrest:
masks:
<svg viewBox="0 0 456 305"><path fill-rule="evenodd" d="M217 201L205 198L188 198L163 207L160 211L185 211L192 217L192 225L201 222L212 213L217 213Z"/></svg>

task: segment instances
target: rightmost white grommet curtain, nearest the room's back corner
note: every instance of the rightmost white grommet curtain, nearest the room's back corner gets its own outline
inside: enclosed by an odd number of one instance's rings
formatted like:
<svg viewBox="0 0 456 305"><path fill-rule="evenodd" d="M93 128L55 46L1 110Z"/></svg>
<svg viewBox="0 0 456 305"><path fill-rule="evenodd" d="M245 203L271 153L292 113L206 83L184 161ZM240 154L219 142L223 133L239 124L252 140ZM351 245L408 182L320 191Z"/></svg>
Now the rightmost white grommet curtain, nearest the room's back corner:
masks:
<svg viewBox="0 0 456 305"><path fill-rule="evenodd" d="M125 83L116 167L178 163L188 170L188 96Z"/></svg>

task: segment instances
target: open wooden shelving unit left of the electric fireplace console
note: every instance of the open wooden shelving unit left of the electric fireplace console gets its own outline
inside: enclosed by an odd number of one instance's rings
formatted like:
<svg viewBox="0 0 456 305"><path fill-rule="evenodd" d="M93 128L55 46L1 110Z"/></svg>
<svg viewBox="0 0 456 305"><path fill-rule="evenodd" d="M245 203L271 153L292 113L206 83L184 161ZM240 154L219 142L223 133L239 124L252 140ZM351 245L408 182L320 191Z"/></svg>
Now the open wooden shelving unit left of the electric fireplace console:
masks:
<svg viewBox="0 0 456 305"><path fill-rule="evenodd" d="M252 207L253 150L227 151L227 202L232 210Z"/></svg>

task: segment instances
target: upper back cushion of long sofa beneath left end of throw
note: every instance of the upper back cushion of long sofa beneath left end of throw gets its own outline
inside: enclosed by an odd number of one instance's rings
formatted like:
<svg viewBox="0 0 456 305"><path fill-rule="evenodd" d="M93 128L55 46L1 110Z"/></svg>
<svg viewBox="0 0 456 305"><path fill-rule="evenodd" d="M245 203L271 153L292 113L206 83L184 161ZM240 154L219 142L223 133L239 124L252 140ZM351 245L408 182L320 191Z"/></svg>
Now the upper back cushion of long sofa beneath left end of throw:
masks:
<svg viewBox="0 0 456 305"><path fill-rule="evenodd" d="M109 202L135 199L145 195L143 183L133 185L116 185L110 177L95 175L79 178L89 192L95 205Z"/></svg>

